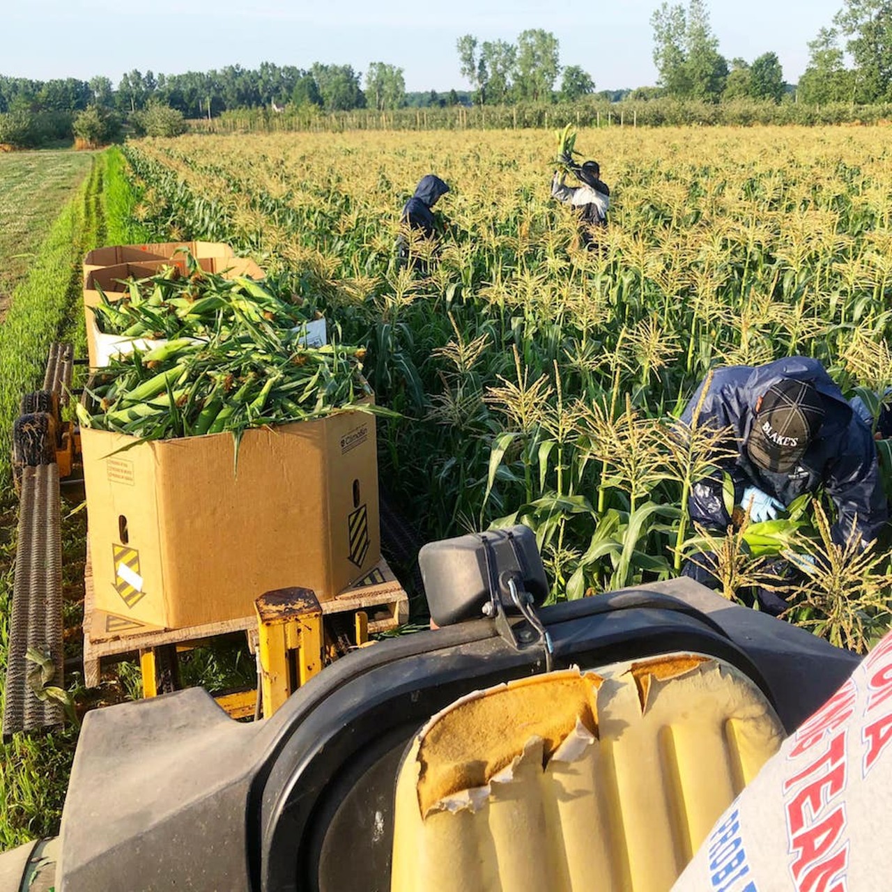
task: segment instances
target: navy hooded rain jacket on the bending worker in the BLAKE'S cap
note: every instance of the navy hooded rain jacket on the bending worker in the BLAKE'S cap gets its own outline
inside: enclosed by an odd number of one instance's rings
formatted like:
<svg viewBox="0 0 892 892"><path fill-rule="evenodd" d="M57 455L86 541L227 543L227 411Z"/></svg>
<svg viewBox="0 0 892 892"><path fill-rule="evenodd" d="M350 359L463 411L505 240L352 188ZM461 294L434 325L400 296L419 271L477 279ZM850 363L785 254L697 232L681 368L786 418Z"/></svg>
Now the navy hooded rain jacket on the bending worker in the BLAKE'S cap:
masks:
<svg viewBox="0 0 892 892"><path fill-rule="evenodd" d="M747 437L756 417L756 401L782 378L814 385L824 404L824 419L805 455L788 474L764 471L747 454ZM705 382L704 382L705 383ZM681 420L690 425L703 384L694 393ZM703 400L698 426L730 427L737 458L721 465L734 483L734 503L739 505L744 489L756 486L784 505L823 486L837 509L833 541L844 544L853 530L862 547L877 538L888 509L880 484L877 451L867 425L848 404L838 386L816 359L793 356L767 365L729 366L714 371ZM731 517L724 507L722 476L714 475L691 487L691 519L708 529L725 529Z"/></svg>

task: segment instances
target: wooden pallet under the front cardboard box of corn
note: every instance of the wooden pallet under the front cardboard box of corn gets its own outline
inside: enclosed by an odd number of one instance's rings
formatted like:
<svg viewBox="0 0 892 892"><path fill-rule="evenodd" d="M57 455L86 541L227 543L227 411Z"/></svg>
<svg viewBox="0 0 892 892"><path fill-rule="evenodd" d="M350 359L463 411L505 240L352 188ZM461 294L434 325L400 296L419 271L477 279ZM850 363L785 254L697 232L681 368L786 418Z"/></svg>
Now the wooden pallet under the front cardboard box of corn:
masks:
<svg viewBox="0 0 892 892"><path fill-rule="evenodd" d="M97 610L89 553L84 589L84 681L88 688L99 684L103 657L142 654L168 645L196 647L220 635L255 632L257 629L257 617L253 614L184 629L159 629L137 623L126 616ZM356 613L359 610L365 612L370 633L394 629L409 619L409 596L384 558L367 576L335 599L324 601L321 607L324 616Z"/></svg>

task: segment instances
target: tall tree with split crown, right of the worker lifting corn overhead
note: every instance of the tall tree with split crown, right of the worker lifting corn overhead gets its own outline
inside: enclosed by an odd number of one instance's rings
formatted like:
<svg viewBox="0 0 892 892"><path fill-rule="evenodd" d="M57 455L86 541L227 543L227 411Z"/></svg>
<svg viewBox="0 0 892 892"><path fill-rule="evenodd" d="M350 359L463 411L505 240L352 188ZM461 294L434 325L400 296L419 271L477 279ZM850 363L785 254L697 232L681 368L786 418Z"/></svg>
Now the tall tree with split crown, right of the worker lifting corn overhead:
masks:
<svg viewBox="0 0 892 892"><path fill-rule="evenodd" d="M703 0L662 4L650 17L654 29L654 64L660 86L669 95L715 102L728 77L728 62L718 52Z"/></svg>

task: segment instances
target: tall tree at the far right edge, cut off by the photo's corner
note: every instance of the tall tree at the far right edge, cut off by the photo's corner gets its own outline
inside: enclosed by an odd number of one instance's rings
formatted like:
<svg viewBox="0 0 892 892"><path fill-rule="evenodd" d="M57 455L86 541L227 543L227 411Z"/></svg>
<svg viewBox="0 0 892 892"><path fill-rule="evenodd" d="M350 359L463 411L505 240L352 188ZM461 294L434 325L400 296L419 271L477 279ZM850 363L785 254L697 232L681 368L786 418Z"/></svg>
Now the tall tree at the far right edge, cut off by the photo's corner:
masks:
<svg viewBox="0 0 892 892"><path fill-rule="evenodd" d="M862 103L892 100L892 0L845 0L834 23L848 37L854 93Z"/></svg>

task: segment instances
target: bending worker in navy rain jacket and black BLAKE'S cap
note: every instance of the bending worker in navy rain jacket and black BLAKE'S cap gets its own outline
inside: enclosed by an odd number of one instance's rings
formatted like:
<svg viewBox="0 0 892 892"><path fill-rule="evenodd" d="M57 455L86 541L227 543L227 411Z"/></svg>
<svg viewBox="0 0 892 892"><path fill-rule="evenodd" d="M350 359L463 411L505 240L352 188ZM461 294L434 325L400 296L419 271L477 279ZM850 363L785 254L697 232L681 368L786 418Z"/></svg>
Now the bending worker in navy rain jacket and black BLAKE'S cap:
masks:
<svg viewBox="0 0 892 892"><path fill-rule="evenodd" d="M704 384L681 416L687 425ZM731 428L736 443L728 446L736 447L737 456L718 464L731 475L734 504L747 508L756 523L822 487L836 508L834 542L843 545L855 536L863 549L879 536L888 508L873 434L816 359L793 356L756 368L716 369L697 424ZM721 473L693 484L694 523L714 531L731 525L722 484ZM708 556L695 556L682 574L715 587L708 564ZM774 615L787 607L775 592L760 589L756 596Z"/></svg>

